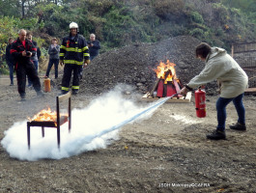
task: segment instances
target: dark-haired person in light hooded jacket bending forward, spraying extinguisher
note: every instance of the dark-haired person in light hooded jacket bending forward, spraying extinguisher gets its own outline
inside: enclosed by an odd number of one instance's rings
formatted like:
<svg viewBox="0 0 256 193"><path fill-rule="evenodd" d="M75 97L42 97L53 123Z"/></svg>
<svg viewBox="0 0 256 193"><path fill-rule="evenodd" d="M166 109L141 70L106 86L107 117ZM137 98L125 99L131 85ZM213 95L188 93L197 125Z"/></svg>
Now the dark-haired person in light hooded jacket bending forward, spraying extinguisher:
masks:
<svg viewBox="0 0 256 193"><path fill-rule="evenodd" d="M226 106L233 101L238 112L238 123L230 125L231 129L246 130L245 109L242 104L244 90L248 87L248 76L239 64L229 55L226 50L219 47L211 47L202 42L196 47L196 57L206 62L205 69L199 75L193 77L181 90L185 95L188 91L205 85L213 80L220 84L220 96L216 101L217 126L213 133L208 134L208 139L226 139L225 122Z"/></svg>

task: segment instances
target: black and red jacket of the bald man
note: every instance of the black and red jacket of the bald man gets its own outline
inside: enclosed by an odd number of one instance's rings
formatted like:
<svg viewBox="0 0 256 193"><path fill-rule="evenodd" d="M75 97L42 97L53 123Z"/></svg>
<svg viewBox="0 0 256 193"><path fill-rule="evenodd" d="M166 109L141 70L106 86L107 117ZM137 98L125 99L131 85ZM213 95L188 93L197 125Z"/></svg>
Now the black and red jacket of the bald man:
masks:
<svg viewBox="0 0 256 193"><path fill-rule="evenodd" d="M22 42L19 40L19 38L12 43L11 46L11 54L14 57L14 62L15 62L15 69L19 65L27 65L27 64L32 64L31 58L30 57L23 57L22 52L23 51L30 51L32 52L32 57L35 56L37 52L37 48L34 46L34 44L29 41L25 40L25 46L22 44Z"/></svg>

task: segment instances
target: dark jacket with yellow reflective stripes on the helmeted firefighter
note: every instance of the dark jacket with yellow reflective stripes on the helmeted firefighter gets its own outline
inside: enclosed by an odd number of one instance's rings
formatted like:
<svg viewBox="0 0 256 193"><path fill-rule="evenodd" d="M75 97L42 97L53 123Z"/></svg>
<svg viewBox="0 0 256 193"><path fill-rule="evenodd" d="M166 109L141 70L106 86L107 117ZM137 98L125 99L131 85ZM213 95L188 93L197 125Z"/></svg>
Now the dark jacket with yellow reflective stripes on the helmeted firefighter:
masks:
<svg viewBox="0 0 256 193"><path fill-rule="evenodd" d="M81 35L76 35L73 39L71 35L65 37L60 48L60 60L63 60L64 64L83 65L83 59L89 60L87 42Z"/></svg>

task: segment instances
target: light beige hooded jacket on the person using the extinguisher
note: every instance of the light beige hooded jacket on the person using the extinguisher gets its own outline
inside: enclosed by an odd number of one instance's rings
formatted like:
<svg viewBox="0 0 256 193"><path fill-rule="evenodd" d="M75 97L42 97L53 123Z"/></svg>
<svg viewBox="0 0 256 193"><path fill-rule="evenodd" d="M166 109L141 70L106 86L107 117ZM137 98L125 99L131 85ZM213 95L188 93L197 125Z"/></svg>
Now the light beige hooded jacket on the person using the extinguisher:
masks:
<svg viewBox="0 0 256 193"><path fill-rule="evenodd" d="M220 84L220 96L225 98L236 97L248 88L248 76L239 64L227 54L225 49L212 47L206 58L206 66L199 75L193 77L187 84L193 89L205 85L213 80Z"/></svg>

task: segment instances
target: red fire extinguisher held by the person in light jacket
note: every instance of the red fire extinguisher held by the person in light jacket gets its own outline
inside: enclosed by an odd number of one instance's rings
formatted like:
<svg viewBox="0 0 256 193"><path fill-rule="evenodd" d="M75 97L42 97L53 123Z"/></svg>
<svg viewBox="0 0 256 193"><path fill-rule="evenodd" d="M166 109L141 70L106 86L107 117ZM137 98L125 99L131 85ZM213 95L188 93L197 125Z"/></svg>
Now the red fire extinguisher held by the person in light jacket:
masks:
<svg viewBox="0 0 256 193"><path fill-rule="evenodd" d="M201 88L195 91L195 110L198 118L206 117L206 92Z"/></svg>

